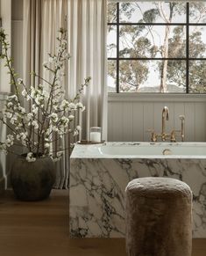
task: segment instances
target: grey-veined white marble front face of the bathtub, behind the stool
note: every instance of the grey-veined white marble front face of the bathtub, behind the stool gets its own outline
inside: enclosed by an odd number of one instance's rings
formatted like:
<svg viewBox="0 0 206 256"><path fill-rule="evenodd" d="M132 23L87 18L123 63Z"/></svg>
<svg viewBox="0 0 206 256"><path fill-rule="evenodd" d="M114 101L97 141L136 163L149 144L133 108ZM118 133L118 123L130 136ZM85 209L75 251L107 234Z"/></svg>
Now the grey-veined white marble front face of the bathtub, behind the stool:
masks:
<svg viewBox="0 0 206 256"><path fill-rule="evenodd" d="M180 179L194 194L193 237L206 238L206 158L71 156L69 187L70 236L124 237L124 189L131 179L164 176Z"/></svg>

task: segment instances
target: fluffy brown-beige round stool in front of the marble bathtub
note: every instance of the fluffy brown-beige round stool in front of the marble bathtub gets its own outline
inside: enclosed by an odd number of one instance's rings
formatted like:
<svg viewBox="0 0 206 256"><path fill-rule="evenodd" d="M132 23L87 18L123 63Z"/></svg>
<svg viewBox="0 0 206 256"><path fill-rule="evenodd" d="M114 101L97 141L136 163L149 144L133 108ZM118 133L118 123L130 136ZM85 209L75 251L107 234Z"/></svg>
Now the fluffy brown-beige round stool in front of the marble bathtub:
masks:
<svg viewBox="0 0 206 256"><path fill-rule="evenodd" d="M191 255L192 192L187 184L169 178L133 179L125 194L128 255Z"/></svg>

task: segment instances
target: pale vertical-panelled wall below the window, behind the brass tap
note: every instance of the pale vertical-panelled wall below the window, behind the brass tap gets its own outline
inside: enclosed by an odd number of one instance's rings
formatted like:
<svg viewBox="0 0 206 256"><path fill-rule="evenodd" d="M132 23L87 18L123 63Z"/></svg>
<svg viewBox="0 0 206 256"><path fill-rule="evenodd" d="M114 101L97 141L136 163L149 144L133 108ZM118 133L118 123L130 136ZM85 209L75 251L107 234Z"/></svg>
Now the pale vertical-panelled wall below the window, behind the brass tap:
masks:
<svg viewBox="0 0 206 256"><path fill-rule="evenodd" d="M206 140L206 95L110 94L108 101L108 141L150 141L147 129L161 132L161 113L169 108L167 132L180 129L185 115L185 141ZM180 138L179 138L180 140Z"/></svg>

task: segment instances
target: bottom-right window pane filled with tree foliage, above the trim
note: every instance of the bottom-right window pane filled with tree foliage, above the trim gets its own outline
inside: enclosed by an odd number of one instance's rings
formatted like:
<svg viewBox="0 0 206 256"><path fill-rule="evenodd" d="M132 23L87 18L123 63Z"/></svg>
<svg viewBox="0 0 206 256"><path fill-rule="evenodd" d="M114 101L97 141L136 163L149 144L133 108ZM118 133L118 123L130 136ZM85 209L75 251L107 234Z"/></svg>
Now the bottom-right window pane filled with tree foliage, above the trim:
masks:
<svg viewBox="0 0 206 256"><path fill-rule="evenodd" d="M206 61L189 62L189 92L206 92Z"/></svg>

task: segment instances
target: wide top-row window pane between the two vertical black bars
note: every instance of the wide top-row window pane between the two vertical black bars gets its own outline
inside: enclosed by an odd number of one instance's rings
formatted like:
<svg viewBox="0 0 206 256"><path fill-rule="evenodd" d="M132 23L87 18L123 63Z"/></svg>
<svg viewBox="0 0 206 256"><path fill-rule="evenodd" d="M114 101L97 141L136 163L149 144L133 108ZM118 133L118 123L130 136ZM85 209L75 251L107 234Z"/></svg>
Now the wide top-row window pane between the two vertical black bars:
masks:
<svg viewBox="0 0 206 256"><path fill-rule="evenodd" d="M134 23L185 23L183 2L135 2L119 4L119 21Z"/></svg>

